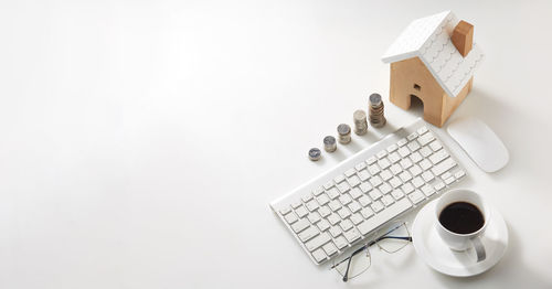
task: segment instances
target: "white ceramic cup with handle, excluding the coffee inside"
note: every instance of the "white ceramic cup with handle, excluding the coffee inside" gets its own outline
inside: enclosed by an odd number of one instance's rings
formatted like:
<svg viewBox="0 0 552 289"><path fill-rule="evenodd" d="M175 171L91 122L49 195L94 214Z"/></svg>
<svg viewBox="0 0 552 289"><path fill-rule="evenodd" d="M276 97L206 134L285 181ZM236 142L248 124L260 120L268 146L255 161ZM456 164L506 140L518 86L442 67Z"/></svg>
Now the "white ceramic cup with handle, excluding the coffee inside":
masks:
<svg viewBox="0 0 552 289"><path fill-rule="evenodd" d="M439 215L446 206L456 202L466 202L477 206L484 215L484 225L476 232L471 232L469 234L454 233L444 227L439 222ZM435 218L437 233L445 244L450 247L450 249L463 251L474 248L477 254L477 261L485 260L486 253L485 246L481 243L481 236L484 235L487 224L490 221L490 207L479 194L469 190L454 190L444 194L437 201L437 205L435 206Z"/></svg>

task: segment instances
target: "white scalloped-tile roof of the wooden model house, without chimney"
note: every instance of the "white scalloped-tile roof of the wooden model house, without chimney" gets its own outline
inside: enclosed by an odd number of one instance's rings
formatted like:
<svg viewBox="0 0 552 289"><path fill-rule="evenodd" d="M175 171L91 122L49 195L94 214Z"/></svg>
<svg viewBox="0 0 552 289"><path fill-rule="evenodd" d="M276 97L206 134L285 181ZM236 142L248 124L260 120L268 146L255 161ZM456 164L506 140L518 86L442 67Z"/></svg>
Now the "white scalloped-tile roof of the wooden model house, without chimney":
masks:
<svg viewBox="0 0 552 289"><path fill-rule="evenodd" d="M382 56L384 63L420 57L447 95L456 97L484 58L474 42L463 57L450 41L458 19L450 11L414 20Z"/></svg>

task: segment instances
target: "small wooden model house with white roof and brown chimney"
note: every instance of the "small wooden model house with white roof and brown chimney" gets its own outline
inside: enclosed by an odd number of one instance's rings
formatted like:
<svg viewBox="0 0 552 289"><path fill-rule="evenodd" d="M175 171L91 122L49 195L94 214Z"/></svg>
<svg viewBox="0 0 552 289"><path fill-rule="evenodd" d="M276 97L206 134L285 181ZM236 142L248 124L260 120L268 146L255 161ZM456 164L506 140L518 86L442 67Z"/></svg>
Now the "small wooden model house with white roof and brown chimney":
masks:
<svg viewBox="0 0 552 289"><path fill-rule="evenodd" d="M442 127L471 90L484 58L473 39L474 26L450 11L413 21L382 56L391 63L391 103L408 109L417 97L424 119Z"/></svg>

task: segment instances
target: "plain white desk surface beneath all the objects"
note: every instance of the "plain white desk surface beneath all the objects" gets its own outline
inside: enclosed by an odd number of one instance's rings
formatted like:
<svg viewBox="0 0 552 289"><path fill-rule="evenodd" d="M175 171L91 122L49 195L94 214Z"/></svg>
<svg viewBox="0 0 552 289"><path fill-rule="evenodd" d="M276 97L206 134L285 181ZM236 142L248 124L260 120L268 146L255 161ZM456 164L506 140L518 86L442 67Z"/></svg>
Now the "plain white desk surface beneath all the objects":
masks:
<svg viewBox="0 0 552 289"><path fill-rule="evenodd" d="M552 42L546 1L4 1L0 4L1 288L545 288L552 286ZM411 122L380 56L453 10L487 58L453 116L511 153L481 172L440 130L510 229L473 278L413 247L342 283L268 207ZM310 162L385 96L389 125Z"/></svg>

